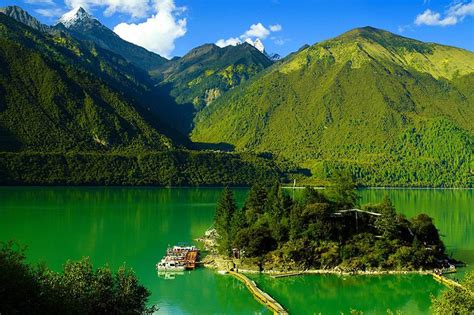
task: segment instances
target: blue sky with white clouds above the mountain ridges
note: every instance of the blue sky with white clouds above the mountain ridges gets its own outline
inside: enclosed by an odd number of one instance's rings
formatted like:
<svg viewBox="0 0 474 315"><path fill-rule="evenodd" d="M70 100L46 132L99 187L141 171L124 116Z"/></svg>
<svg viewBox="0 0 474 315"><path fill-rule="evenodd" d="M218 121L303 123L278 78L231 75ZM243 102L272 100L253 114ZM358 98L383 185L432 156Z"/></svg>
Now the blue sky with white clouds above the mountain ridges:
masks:
<svg viewBox="0 0 474 315"><path fill-rule="evenodd" d="M355 27L373 26L474 51L474 0L0 0L46 24L85 7L123 38L167 57L203 43L260 38L286 55ZM119 25L119 26L117 26Z"/></svg>

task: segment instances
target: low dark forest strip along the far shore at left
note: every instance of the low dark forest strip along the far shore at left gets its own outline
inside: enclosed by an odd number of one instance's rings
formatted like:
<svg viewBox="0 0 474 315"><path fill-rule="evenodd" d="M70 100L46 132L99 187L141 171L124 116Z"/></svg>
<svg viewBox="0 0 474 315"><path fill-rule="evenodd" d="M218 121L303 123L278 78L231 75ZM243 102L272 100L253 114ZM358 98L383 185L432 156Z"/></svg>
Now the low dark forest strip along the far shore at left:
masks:
<svg viewBox="0 0 474 315"><path fill-rule="evenodd" d="M282 167L253 154L0 152L4 185L245 186L284 180Z"/></svg>

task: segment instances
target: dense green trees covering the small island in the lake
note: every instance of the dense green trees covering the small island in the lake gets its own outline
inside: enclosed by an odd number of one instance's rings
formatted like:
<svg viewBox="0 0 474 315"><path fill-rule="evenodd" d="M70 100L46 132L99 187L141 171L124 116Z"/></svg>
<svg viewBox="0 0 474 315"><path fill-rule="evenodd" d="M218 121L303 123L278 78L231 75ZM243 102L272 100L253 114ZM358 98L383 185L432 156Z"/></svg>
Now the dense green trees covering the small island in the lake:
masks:
<svg viewBox="0 0 474 315"><path fill-rule="evenodd" d="M244 263L260 270L416 270L445 263L432 218L407 219L388 198L357 209L354 188L339 175L331 189L307 188L301 200L292 200L278 183L256 184L242 208L225 189L215 217L219 251L228 256L237 248Z"/></svg>

